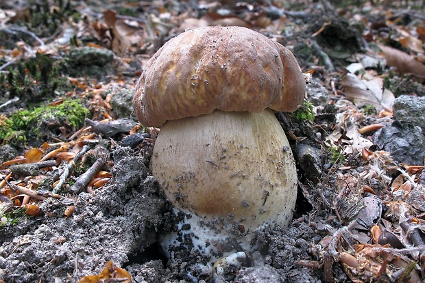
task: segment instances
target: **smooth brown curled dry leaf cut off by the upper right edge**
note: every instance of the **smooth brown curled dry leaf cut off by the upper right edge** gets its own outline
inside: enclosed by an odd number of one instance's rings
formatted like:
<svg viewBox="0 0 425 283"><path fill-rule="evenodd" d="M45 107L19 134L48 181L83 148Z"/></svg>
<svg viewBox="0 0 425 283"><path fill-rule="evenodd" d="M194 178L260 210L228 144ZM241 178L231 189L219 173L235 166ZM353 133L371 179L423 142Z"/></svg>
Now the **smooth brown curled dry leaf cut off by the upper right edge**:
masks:
<svg viewBox="0 0 425 283"><path fill-rule="evenodd" d="M418 62L415 57L382 44L378 45L383 51L388 66L396 67L402 74L411 74L420 82L425 81L425 65Z"/></svg>

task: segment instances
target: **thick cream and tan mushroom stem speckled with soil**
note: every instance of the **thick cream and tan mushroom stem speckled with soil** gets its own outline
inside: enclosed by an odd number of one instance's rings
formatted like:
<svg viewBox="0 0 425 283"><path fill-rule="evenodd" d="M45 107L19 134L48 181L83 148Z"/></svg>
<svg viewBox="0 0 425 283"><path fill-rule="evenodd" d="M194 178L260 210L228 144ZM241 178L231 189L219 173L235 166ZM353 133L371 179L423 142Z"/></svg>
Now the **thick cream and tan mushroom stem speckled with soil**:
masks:
<svg viewBox="0 0 425 283"><path fill-rule="evenodd" d="M270 109L167 121L151 170L176 212L196 215L188 223L196 237L207 231L205 243L236 239L245 249L254 230L291 220L295 162Z"/></svg>

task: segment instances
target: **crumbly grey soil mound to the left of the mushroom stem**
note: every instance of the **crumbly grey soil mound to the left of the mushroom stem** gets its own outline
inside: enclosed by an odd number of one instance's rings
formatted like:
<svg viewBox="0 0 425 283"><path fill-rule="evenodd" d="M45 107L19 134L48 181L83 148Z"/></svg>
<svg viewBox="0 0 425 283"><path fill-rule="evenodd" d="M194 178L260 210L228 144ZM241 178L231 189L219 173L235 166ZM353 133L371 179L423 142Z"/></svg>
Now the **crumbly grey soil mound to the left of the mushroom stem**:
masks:
<svg viewBox="0 0 425 283"><path fill-rule="evenodd" d="M156 242L166 210L156 180L130 148L114 150L114 182L95 196L80 193L40 205L44 217L27 217L0 229L0 278L4 282L77 282L113 260ZM64 211L75 206L69 217Z"/></svg>

